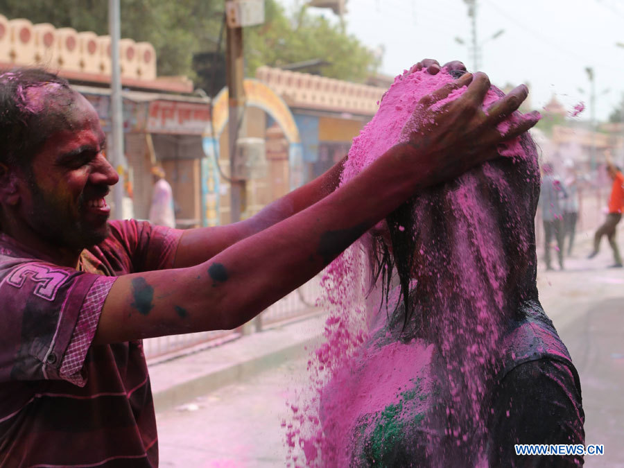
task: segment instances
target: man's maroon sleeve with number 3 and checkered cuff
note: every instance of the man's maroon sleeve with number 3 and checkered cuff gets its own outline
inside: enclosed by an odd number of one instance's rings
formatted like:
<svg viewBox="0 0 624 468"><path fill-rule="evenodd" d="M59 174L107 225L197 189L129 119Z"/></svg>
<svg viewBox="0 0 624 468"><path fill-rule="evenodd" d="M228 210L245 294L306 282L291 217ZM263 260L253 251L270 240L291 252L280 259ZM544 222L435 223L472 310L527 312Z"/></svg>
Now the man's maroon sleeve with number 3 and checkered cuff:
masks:
<svg viewBox="0 0 624 468"><path fill-rule="evenodd" d="M80 375L114 277L29 261L3 270L0 281L0 382Z"/></svg>

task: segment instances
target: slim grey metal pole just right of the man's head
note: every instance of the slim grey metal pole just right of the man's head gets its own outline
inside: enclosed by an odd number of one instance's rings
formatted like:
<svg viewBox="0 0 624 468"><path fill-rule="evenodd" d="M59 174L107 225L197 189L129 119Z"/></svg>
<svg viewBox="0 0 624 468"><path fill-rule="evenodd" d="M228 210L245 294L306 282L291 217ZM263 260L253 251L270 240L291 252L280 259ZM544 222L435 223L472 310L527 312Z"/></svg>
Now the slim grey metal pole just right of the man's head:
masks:
<svg viewBox="0 0 624 468"><path fill-rule="evenodd" d="M121 110L121 68L119 67L120 33L119 0L108 0L108 27L110 33L110 162L123 179L123 114ZM113 219L123 218L123 180L113 186Z"/></svg>

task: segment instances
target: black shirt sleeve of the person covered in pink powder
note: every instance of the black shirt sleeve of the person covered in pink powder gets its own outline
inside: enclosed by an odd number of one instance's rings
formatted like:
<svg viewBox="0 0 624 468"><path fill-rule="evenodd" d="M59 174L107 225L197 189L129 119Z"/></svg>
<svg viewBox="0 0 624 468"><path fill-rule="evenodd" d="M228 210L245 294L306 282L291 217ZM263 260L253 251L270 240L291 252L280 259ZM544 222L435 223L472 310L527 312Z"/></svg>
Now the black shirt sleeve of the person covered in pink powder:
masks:
<svg viewBox="0 0 624 468"><path fill-rule="evenodd" d="M490 466L578 467L582 456L517 456L515 444L584 444L580 383L573 367L550 358L518 365L492 407Z"/></svg>

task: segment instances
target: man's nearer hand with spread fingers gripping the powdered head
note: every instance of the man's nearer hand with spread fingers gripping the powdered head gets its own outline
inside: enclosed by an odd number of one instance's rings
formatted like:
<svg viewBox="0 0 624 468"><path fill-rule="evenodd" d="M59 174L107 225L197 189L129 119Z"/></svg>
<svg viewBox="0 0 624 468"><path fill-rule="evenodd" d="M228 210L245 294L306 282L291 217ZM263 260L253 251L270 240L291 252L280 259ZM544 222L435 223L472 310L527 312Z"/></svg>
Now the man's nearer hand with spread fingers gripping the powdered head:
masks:
<svg viewBox="0 0 624 468"><path fill-rule="evenodd" d="M401 141L428 155L431 182L451 180L473 166L494 159L499 144L521 135L539 121L539 113L530 112L508 120L507 128L499 130L497 125L518 109L528 89L525 85L516 87L485 112L483 101L489 85L485 73L465 73L424 96L404 126ZM440 106L440 101L464 86L467 90L463 94Z"/></svg>

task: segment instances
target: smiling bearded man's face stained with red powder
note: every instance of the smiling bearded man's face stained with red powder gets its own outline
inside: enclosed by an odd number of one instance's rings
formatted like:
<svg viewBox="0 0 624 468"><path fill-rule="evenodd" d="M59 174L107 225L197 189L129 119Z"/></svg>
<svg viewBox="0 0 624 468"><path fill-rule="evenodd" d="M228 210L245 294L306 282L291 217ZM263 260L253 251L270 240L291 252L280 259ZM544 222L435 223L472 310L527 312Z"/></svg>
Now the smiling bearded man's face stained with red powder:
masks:
<svg viewBox="0 0 624 468"><path fill-rule="evenodd" d="M55 107L55 98L49 103ZM49 131L24 174L21 216L42 239L82 250L105 239L110 207L104 197L119 176L107 161L98 115L80 94L71 92L44 123Z"/></svg>

